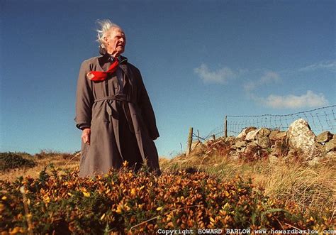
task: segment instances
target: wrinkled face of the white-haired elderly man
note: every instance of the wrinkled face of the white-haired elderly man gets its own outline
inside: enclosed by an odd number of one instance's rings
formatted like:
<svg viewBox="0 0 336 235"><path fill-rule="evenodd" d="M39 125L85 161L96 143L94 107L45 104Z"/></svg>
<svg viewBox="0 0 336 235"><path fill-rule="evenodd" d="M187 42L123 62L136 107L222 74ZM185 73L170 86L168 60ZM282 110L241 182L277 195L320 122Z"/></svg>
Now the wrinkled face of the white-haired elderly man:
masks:
<svg viewBox="0 0 336 235"><path fill-rule="evenodd" d="M103 37L108 54L117 57L125 50L126 38L121 28L111 28Z"/></svg>

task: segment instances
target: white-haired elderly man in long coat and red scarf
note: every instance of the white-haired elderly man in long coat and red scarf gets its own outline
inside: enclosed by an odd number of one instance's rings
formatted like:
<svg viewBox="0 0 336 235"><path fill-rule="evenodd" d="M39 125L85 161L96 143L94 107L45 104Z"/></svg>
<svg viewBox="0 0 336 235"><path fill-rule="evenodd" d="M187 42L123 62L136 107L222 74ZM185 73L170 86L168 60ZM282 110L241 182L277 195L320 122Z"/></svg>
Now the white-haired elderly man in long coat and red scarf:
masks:
<svg viewBox="0 0 336 235"><path fill-rule="evenodd" d="M147 164L159 174L155 114L140 71L121 56L125 33L111 21L99 23L101 56L82 62L77 82L79 177L121 168L125 160L135 170Z"/></svg>

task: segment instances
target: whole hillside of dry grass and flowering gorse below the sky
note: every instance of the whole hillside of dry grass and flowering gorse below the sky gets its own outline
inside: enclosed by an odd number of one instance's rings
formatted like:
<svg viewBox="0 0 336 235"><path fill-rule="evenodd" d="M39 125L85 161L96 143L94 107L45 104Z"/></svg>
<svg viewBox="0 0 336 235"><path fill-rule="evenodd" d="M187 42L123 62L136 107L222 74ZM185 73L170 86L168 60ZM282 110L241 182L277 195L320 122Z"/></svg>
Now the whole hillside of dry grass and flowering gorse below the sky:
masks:
<svg viewBox="0 0 336 235"><path fill-rule="evenodd" d="M21 153L36 165L1 172L0 232L335 229L335 158L319 156L311 164L300 151L292 158L269 158L260 154L262 148L248 157L241 151L246 147L235 146L243 139L194 143L188 156L160 158L159 177L146 168L137 174L123 168L79 179L78 154ZM233 158L230 152L237 150L240 155Z"/></svg>

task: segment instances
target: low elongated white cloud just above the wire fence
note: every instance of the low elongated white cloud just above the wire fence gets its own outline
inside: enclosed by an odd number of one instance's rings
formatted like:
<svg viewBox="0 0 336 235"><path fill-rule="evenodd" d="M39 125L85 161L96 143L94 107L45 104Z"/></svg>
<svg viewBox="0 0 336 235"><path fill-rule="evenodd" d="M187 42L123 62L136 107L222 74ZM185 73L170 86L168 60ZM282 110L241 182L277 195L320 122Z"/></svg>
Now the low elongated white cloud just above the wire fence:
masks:
<svg viewBox="0 0 336 235"><path fill-rule="evenodd" d="M298 108L313 108L325 106L328 104L327 99L323 94L315 94L308 90L306 94L296 96L289 94L286 96L278 96L271 94L269 97L254 97L257 102L261 102L266 106L274 109L298 109Z"/></svg>

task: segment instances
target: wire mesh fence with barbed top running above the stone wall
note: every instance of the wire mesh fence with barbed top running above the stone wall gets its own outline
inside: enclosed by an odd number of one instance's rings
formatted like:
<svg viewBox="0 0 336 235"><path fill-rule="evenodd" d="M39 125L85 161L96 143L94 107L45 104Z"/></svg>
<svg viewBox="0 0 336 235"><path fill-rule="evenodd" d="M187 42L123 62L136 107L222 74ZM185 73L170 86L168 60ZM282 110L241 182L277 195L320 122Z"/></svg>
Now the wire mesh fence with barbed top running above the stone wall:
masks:
<svg viewBox="0 0 336 235"><path fill-rule="evenodd" d="M294 114L262 114L262 115L228 115L222 125L215 127L207 136L193 132L195 139L206 141L220 136L237 136L242 129L249 126L256 128L278 129L286 131L293 121L305 119L315 134L323 131L336 131L336 105L320 107Z"/></svg>

